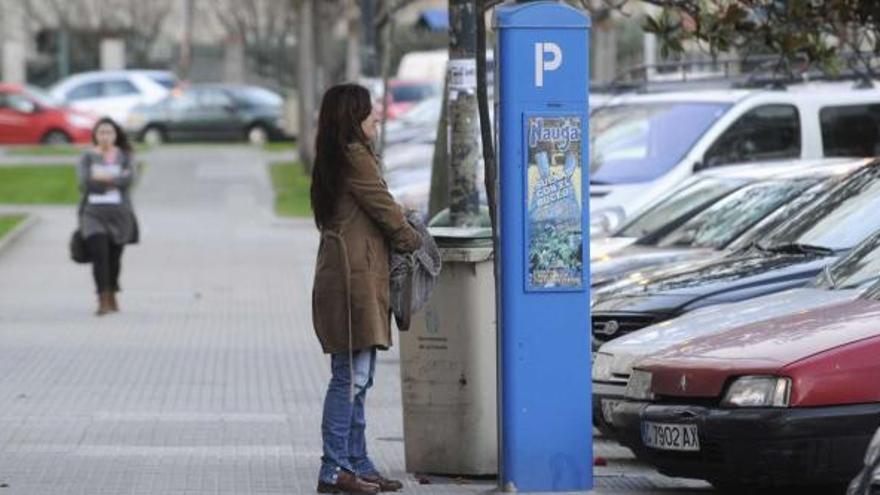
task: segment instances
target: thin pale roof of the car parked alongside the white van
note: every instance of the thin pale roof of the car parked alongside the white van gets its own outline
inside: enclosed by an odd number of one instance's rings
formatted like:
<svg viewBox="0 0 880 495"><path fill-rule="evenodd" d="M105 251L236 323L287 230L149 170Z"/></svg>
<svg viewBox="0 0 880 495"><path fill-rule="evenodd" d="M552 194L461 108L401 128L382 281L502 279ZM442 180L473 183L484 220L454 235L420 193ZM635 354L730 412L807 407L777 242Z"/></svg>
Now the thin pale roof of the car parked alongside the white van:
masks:
<svg viewBox="0 0 880 495"><path fill-rule="evenodd" d="M844 174L871 162L870 158L819 158L777 160L739 165L725 165L697 172L695 177L730 179L799 178Z"/></svg>

